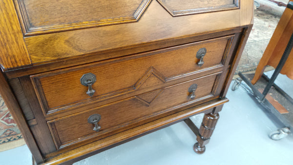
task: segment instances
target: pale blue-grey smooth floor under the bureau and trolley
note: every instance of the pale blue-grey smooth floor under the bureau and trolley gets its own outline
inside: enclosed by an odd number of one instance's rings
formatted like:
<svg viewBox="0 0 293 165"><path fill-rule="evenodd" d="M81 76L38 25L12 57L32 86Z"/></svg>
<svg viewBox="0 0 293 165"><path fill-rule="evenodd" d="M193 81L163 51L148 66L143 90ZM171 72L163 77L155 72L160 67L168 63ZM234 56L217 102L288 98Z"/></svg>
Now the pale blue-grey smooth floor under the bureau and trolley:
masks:
<svg viewBox="0 0 293 165"><path fill-rule="evenodd" d="M292 80L283 77L277 82L289 93L293 92ZM276 125L242 87L229 90L227 98L230 102L220 112L202 155L193 152L196 137L181 122L74 165L293 165L293 136L271 140L268 134L281 125ZM194 116L192 120L199 125L202 116ZM27 146L0 152L0 165L31 165Z"/></svg>

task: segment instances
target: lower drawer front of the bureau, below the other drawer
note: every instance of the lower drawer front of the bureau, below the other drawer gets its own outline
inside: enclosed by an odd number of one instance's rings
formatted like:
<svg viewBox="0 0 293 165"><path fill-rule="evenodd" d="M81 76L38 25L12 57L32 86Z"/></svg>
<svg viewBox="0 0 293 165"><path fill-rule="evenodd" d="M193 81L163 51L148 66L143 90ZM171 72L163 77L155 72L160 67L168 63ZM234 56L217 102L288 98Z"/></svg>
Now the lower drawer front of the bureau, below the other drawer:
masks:
<svg viewBox="0 0 293 165"><path fill-rule="evenodd" d="M47 123L57 148L85 140L90 142L101 139L154 120L155 117L175 113L180 107L188 104L193 106L193 104L202 103L200 101L214 98L217 79L220 75L220 73L215 73L182 82ZM190 98L193 94L191 85L196 86L193 88L195 89L193 99ZM93 114L101 115L101 120L97 123L101 126L98 132L93 130L94 124L88 123L89 116Z"/></svg>

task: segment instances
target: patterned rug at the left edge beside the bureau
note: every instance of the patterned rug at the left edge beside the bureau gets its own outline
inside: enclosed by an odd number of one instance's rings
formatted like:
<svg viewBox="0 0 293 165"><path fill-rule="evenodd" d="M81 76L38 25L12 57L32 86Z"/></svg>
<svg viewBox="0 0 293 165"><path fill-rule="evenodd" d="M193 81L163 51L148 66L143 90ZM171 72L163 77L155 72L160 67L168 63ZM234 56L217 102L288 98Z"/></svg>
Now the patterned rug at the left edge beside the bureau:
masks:
<svg viewBox="0 0 293 165"><path fill-rule="evenodd" d="M0 151L24 144L21 131L0 96Z"/></svg>

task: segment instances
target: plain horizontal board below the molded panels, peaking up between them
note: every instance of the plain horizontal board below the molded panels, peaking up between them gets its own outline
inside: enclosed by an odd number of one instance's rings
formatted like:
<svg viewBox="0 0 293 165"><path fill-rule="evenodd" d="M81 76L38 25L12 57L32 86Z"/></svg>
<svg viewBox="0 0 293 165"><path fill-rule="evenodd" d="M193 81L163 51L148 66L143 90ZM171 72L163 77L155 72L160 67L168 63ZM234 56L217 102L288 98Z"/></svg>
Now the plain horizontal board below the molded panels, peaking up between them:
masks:
<svg viewBox="0 0 293 165"><path fill-rule="evenodd" d="M242 1L252 3L252 0ZM33 63L46 62L247 25L240 22L251 22L252 17L241 18L240 12L252 13L252 10L251 6L243 5L240 10L173 18L157 1L152 1L144 16L135 23L28 37L25 42Z"/></svg>

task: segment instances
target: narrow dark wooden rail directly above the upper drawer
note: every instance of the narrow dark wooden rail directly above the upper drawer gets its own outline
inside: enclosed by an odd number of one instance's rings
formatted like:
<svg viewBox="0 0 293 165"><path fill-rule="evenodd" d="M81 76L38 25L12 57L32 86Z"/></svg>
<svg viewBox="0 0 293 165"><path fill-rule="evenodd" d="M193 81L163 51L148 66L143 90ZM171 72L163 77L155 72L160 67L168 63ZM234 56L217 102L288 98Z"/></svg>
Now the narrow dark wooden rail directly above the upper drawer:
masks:
<svg viewBox="0 0 293 165"><path fill-rule="evenodd" d="M117 58L117 57L122 57L127 55L134 55L141 52L148 52L148 51L153 51L153 50L167 48L167 47L173 47L173 46L191 43L191 42L204 41L204 40L209 40L212 38L219 38L223 36L234 35L237 33L241 33L242 31L243 31L243 27L236 27L236 28L224 29L223 31L216 31L214 33L193 34L193 35L188 35L188 36L184 36L180 38L168 39L164 41L142 43L142 44L133 45L131 47L127 47L123 49L103 51L99 53L93 53L90 55L71 57L71 58L66 58L62 60L54 60L50 62L44 62L42 64L33 64L33 65L26 66L25 68L17 69L17 70L8 69L8 70L5 70L5 74L7 78L10 78L10 79L17 78L17 77L37 74L40 72L47 72L51 70L67 68L67 67L72 67L76 65L82 65L82 64L86 64L90 62L103 61L105 59L112 59L112 58Z"/></svg>

